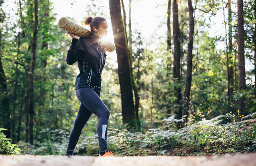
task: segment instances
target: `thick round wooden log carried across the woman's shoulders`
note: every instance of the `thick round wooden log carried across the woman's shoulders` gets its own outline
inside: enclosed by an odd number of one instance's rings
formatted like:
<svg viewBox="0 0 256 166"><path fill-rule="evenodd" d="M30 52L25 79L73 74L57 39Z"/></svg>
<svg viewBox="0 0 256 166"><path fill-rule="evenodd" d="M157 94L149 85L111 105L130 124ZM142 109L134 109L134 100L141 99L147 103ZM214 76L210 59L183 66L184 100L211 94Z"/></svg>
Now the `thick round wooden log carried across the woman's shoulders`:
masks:
<svg viewBox="0 0 256 166"><path fill-rule="evenodd" d="M78 25L77 23L73 22L71 19L67 17L61 17L58 22L58 26L64 31L75 34L78 37L90 37L91 35L91 31L89 29L81 25ZM108 52L113 52L116 49L116 46L114 43L106 40L100 40L100 44Z"/></svg>

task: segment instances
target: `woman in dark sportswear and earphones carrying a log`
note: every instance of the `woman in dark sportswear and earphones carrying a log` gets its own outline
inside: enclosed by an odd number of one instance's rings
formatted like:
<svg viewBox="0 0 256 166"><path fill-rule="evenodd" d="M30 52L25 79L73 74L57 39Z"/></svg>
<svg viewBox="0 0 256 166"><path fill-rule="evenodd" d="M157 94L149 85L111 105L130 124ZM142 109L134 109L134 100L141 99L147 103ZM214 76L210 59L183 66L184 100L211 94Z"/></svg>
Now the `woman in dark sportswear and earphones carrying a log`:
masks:
<svg viewBox="0 0 256 166"><path fill-rule="evenodd" d="M73 128L69 135L65 155L73 155L75 146L81 135L85 123L94 113L98 117L97 135L99 141L99 157L114 156L107 148L107 129L110 111L100 98L101 72L105 65L106 50L99 44L99 40L107 34L105 18L88 16L84 25L91 28L90 37L81 37L68 33L72 37L71 46L67 54L67 63L77 61L80 73L75 80L75 93L81 102Z"/></svg>

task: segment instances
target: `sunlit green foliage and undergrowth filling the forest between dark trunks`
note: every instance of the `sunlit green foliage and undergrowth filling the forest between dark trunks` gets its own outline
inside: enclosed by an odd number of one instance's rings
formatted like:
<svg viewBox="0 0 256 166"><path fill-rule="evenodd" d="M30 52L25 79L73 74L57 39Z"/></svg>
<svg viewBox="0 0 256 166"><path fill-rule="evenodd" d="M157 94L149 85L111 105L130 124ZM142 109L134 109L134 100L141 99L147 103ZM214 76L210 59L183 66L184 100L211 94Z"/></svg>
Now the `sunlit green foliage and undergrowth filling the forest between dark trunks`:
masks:
<svg viewBox="0 0 256 166"><path fill-rule="evenodd" d="M0 2L2 5L3 1ZM80 105L74 90L77 63L72 66L66 63L66 53L71 45L71 37L54 24L57 21L55 18L57 14L53 13L52 6L50 5L49 9L47 1L39 0L38 2L40 26L34 72L34 145L25 141L28 110L28 71L31 59L29 38L33 24L33 1L25 0L21 3L16 1L19 9L16 11L19 18L16 22L9 21L11 15L3 12L3 6L0 10L0 54L7 80L6 84L8 85L8 94L1 94L1 98L7 97L10 101L11 141L13 142L11 143L10 140L6 139L1 132L1 154L19 154L20 152L20 154L64 155L68 136ZM104 6L95 5L95 2L88 3L88 10L85 15L96 16L101 13L102 17L107 18L108 13L106 13ZM181 86L182 93L185 89L189 30L186 3L186 0L179 2L182 77L178 86ZM246 90L239 92L238 88L235 88L234 100L231 109L229 109L227 69L225 66L226 46L223 46L221 50L216 47L218 42L225 40L225 37L209 37L209 32L206 30L210 28L206 20L210 21L217 11L221 11L224 3L226 2L200 0L197 4L197 8L201 10L196 10L200 17L195 18L191 108L186 128L178 130L173 125L175 121L172 116L175 108L175 96L174 91L172 91L170 97L168 97L167 90L168 88L174 89L175 84L172 73L170 77L166 77L167 57L171 57L173 61L173 48L170 52L166 51L166 39L161 40L166 36L152 35L143 38L140 29L132 32L132 67L134 78L139 87L139 115L142 132L128 131L126 125L122 123L118 72L116 67L108 63L110 57L106 58L106 64L102 72L101 99L111 113L108 148L115 155L205 155L255 152L255 121L237 122L239 97L246 96L248 114L255 112L255 85L251 81L255 69L246 71ZM236 5L235 1L231 1L231 3ZM244 2L245 57L250 63L253 63L253 58L255 58L253 52L255 47L253 44L255 20L251 14L254 5L253 0ZM45 15L46 12L49 12L49 16ZM235 55L237 54L236 11L233 11L232 18L233 52ZM71 19L79 22L75 18ZM166 20L166 17L163 20ZM161 26L166 26L166 23L159 25L159 27ZM157 43L156 49L149 49L150 45L157 39L160 42ZM42 49L43 42L48 43L44 49ZM44 60L46 60L46 66L44 66ZM234 63L237 66L235 84L238 86L237 59L234 60ZM171 115L166 113L167 108L173 110ZM229 122L219 124L207 121L218 117L218 115L225 115ZM255 120L255 117L251 117L251 119ZM207 123L201 124L198 123L199 121L206 121ZM74 152L75 155L98 155L96 125L97 116L92 115L83 128ZM20 133L19 137L18 133Z"/></svg>

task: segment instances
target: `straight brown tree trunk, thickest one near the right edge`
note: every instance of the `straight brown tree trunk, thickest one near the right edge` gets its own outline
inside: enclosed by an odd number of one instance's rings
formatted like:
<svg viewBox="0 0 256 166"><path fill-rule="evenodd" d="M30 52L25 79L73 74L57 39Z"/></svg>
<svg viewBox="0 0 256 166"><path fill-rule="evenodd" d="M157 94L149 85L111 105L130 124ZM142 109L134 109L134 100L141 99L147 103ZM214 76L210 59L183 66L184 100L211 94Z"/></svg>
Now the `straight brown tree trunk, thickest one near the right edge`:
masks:
<svg viewBox="0 0 256 166"><path fill-rule="evenodd" d="M245 90L245 56L244 56L244 32L243 32L243 0L237 0L237 32L238 32L238 68L239 68L239 91ZM239 121L242 115L246 115L245 96L238 100Z"/></svg>

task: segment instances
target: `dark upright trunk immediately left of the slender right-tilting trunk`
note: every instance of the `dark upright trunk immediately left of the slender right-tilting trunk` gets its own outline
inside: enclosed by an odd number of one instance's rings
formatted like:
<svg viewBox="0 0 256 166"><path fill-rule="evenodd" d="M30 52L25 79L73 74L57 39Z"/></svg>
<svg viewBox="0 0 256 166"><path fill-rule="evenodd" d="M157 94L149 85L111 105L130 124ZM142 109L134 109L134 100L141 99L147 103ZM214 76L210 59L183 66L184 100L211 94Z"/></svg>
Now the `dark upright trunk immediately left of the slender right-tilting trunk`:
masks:
<svg viewBox="0 0 256 166"><path fill-rule="evenodd" d="M180 77L180 61L181 61L181 42L179 38L179 19L178 19L178 4L177 0L173 0L173 42L174 42L174 61L173 61L173 78L174 78L174 94L175 94L175 112L176 119L182 117L181 88L178 86ZM176 123L177 128L181 128L181 123Z"/></svg>

